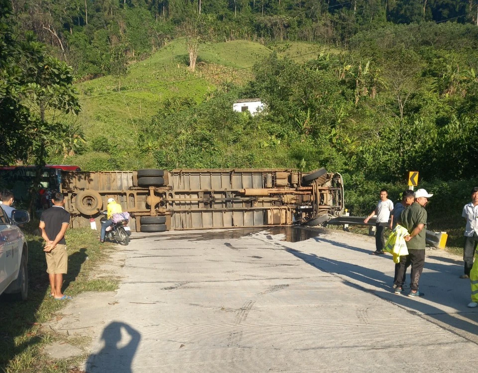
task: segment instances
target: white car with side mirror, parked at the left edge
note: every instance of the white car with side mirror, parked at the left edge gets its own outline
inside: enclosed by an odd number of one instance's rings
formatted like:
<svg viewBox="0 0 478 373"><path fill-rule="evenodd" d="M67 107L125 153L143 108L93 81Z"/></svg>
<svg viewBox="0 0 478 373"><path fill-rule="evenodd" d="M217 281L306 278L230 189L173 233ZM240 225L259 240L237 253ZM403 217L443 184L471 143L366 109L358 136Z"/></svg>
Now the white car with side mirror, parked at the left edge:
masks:
<svg viewBox="0 0 478 373"><path fill-rule="evenodd" d="M17 293L22 300L28 297L28 246L16 224L29 220L26 211L14 210L8 217L0 207L0 294Z"/></svg>

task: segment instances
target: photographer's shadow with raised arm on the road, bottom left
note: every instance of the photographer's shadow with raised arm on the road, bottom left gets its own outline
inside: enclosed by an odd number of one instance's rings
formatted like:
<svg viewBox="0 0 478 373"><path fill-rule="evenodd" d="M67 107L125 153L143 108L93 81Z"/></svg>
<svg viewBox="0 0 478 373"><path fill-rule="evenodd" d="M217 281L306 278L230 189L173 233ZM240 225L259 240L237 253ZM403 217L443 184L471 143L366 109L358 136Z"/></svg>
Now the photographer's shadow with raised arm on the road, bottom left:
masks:
<svg viewBox="0 0 478 373"><path fill-rule="evenodd" d="M121 331L127 336L123 338ZM141 340L139 332L128 324L114 321L101 336L104 347L98 354L92 354L86 363L87 373L132 373L131 364Z"/></svg>

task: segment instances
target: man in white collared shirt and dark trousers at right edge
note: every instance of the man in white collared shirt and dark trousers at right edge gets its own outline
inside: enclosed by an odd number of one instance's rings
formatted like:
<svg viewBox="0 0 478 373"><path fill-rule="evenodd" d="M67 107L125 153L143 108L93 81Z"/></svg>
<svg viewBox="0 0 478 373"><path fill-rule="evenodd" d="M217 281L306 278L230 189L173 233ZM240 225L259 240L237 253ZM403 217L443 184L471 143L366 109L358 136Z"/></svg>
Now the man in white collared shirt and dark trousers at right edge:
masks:
<svg viewBox="0 0 478 373"><path fill-rule="evenodd" d="M465 228L465 247L463 248L465 270L460 278L469 279L478 244L478 187L472 189L472 201L463 207L462 216L467 219L467 226Z"/></svg>

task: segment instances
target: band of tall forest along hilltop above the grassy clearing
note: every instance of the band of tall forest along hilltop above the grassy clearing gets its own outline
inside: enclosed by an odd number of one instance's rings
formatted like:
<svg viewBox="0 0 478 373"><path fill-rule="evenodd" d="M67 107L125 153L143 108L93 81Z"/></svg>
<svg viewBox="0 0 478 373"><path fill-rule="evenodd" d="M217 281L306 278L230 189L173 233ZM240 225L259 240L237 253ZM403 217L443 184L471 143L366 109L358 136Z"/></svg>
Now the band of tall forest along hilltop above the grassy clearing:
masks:
<svg viewBox="0 0 478 373"><path fill-rule="evenodd" d="M478 4L467 1L213 0L201 2L201 14L199 3L31 0L16 1L14 8L20 28L33 30L82 78L115 74L119 63L127 65L166 40L187 35L191 19L197 18L202 18L197 31L203 40L477 48ZM452 23L435 23L448 19Z"/></svg>

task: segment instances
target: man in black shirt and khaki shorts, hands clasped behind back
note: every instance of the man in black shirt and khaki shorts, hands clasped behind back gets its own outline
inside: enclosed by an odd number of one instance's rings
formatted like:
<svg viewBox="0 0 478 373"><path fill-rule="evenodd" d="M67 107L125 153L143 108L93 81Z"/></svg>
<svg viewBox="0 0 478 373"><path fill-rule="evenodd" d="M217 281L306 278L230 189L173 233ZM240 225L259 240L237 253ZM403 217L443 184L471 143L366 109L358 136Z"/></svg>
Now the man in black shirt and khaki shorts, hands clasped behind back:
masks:
<svg viewBox="0 0 478 373"><path fill-rule="evenodd" d="M70 224L70 214L64 209L65 198L56 192L52 195L53 206L43 211L40 218L41 236L46 241L45 252L48 277L50 279L50 296L58 300L71 299L61 292L63 274L68 270L68 253L65 232Z"/></svg>

